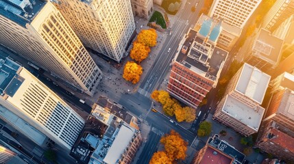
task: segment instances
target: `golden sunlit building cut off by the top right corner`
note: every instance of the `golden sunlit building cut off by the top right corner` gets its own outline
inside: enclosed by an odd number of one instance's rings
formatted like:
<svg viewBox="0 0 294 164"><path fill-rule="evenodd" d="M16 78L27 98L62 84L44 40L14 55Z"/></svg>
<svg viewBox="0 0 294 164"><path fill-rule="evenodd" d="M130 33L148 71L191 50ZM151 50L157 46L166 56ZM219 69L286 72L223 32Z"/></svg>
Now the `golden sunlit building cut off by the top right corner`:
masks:
<svg viewBox="0 0 294 164"><path fill-rule="evenodd" d="M273 32L292 14L294 14L293 0L277 0L265 15L262 28Z"/></svg>

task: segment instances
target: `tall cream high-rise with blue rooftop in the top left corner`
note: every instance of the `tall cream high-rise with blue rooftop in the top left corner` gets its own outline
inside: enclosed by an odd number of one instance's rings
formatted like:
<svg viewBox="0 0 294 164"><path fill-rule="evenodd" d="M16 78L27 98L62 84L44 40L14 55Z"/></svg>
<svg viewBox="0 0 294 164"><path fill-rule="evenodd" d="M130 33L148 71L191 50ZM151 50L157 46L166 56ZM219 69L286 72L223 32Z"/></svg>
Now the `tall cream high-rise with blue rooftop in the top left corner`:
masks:
<svg viewBox="0 0 294 164"><path fill-rule="evenodd" d="M101 70L50 1L0 0L0 43L93 95Z"/></svg>

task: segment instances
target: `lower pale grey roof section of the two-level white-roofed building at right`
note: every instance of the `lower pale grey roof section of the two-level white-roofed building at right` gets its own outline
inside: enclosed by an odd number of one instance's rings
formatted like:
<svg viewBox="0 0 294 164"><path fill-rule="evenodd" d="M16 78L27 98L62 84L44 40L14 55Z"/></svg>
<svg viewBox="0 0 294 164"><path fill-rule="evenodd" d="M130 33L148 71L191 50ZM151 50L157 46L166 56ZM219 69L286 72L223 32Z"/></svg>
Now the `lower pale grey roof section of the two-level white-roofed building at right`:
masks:
<svg viewBox="0 0 294 164"><path fill-rule="evenodd" d="M265 112L265 109L260 106L252 109L243 102L230 96L230 94L225 97L225 103L221 110L256 131L258 131L262 115Z"/></svg>

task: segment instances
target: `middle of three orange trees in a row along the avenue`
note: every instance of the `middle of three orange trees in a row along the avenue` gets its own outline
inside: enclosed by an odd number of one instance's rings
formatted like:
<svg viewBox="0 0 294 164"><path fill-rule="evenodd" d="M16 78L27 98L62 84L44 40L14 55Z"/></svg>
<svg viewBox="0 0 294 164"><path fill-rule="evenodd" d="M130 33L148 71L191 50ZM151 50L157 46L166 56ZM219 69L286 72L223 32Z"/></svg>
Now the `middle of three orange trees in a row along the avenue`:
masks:
<svg viewBox="0 0 294 164"><path fill-rule="evenodd" d="M133 48L130 52L130 57L137 62L143 61L148 57L150 52L149 46L145 46L144 44L140 44L139 42L134 42Z"/></svg>

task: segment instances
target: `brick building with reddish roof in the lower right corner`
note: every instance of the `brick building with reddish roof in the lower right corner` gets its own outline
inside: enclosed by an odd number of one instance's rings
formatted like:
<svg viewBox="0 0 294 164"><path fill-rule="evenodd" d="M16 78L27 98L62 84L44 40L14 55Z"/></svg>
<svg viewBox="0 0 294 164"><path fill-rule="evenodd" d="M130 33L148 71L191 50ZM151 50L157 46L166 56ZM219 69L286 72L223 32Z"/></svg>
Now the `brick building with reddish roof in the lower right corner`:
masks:
<svg viewBox="0 0 294 164"><path fill-rule="evenodd" d="M262 122L256 146L279 159L294 161L294 131L284 124L275 121Z"/></svg>

